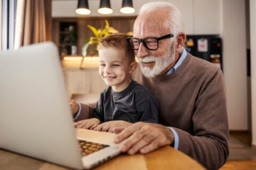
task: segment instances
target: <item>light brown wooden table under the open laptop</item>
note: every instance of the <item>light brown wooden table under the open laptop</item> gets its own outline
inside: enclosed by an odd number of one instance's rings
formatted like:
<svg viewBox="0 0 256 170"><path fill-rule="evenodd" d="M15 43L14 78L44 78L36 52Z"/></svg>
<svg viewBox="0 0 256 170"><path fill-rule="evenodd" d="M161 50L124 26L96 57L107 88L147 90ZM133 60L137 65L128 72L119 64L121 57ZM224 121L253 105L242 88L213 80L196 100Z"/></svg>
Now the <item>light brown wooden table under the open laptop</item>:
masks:
<svg viewBox="0 0 256 170"><path fill-rule="evenodd" d="M77 135L81 135L81 131ZM17 141L18 142L18 141ZM42 160L0 149L0 169L68 169ZM205 169L194 159L172 147L165 146L146 155L119 155L95 169Z"/></svg>

